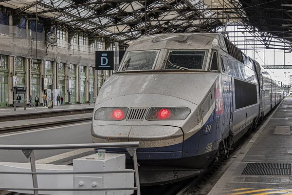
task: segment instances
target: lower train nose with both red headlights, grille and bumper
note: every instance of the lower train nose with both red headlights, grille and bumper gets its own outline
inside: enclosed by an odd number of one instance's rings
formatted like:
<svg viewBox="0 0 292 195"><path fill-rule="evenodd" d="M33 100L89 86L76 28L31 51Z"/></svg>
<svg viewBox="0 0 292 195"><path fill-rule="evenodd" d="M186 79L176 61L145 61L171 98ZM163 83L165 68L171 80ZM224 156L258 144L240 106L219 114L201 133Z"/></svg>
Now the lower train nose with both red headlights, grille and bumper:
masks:
<svg viewBox="0 0 292 195"><path fill-rule="evenodd" d="M112 118L116 110L118 114L123 111L123 117ZM195 103L161 94L130 94L108 99L95 107L92 141L139 141L139 160L182 158L184 136L193 135L197 110ZM122 149L114 151L123 152Z"/></svg>

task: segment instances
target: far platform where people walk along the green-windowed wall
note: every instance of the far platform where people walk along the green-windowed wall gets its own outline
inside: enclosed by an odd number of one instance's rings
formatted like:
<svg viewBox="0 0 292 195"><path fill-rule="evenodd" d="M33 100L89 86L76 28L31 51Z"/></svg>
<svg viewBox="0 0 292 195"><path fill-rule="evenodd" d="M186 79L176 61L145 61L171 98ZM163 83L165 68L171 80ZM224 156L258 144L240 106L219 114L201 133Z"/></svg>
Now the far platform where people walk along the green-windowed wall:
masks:
<svg viewBox="0 0 292 195"><path fill-rule="evenodd" d="M14 111L13 107L1 108L0 122L85 114L92 113L93 109L94 104L61 105L54 106L54 108L43 106L26 107L26 110L24 110L23 107L19 107L16 111Z"/></svg>

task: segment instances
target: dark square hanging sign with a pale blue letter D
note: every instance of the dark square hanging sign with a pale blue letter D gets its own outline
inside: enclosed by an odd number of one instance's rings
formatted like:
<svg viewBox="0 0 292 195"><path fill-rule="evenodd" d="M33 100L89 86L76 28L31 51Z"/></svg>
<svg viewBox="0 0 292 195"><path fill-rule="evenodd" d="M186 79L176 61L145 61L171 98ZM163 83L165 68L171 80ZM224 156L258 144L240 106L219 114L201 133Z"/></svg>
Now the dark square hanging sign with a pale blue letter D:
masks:
<svg viewBox="0 0 292 195"><path fill-rule="evenodd" d="M95 69L96 70L113 70L114 69L114 51L96 51L95 52Z"/></svg>

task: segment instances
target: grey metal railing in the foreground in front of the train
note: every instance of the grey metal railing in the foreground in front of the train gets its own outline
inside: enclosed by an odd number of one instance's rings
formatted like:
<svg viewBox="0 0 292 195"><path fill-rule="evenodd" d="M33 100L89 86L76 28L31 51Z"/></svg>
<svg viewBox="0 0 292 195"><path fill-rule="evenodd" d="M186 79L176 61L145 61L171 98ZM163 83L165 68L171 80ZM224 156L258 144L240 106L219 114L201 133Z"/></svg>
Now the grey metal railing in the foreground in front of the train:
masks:
<svg viewBox="0 0 292 195"><path fill-rule="evenodd" d="M92 144L57 144L57 145L0 145L0 150L21 150L26 158L30 158L30 165L32 172L0 172L0 174L16 174L16 175L32 175L34 188L1 188L0 190L9 191L34 191L34 195L38 195L38 191L119 191L119 190L137 190L137 195L141 195L140 181L138 173L138 162L136 151L139 146L139 142L113 142L113 143L92 143ZM102 172L59 172L59 173L47 173L37 172L36 159L34 150L58 150L58 149L85 149L85 148L126 148L129 155L133 158L134 170L125 171L102 171ZM113 174L113 173L134 173L136 187L133 188L85 188L85 189L45 189L38 188L37 175L66 175L66 174Z"/></svg>

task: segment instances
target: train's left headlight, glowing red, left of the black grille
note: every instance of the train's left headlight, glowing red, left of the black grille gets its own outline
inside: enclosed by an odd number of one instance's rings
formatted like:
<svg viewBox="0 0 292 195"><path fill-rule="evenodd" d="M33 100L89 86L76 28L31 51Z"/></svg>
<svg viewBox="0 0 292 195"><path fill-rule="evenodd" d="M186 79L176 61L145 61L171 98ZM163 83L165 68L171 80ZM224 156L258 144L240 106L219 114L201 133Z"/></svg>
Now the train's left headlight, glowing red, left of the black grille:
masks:
<svg viewBox="0 0 292 195"><path fill-rule="evenodd" d="M95 111L95 120L124 120L127 116L128 108L99 108Z"/></svg>

